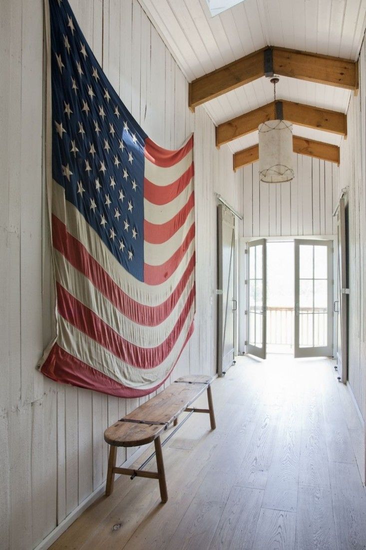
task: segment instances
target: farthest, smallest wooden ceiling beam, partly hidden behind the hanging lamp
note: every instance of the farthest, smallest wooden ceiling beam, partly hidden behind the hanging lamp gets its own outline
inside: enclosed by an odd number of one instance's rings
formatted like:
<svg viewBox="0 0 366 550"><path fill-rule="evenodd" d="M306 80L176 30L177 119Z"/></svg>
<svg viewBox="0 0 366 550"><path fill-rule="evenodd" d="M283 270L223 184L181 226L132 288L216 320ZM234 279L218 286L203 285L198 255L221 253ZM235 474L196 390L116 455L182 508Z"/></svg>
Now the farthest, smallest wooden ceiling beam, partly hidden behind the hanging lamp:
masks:
<svg viewBox="0 0 366 550"><path fill-rule="evenodd" d="M320 158L323 161L335 162L339 165L340 152L337 145L324 143L323 141L314 141L306 138L292 136L293 152L309 157ZM259 158L259 146L253 145L248 149L242 149L232 156L234 172L242 166L247 166L256 162Z"/></svg>

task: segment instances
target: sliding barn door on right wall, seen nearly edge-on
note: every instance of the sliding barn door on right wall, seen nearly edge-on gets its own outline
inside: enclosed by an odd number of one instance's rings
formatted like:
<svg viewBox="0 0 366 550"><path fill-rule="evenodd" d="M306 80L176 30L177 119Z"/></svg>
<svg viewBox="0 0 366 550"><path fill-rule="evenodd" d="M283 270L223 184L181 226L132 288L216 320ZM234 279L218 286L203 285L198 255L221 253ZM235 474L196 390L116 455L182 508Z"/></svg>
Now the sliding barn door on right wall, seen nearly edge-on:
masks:
<svg viewBox="0 0 366 550"><path fill-rule="evenodd" d="M346 272L346 214L345 199L338 206L338 298L335 303L337 319L337 366L343 384L347 382L347 272Z"/></svg>

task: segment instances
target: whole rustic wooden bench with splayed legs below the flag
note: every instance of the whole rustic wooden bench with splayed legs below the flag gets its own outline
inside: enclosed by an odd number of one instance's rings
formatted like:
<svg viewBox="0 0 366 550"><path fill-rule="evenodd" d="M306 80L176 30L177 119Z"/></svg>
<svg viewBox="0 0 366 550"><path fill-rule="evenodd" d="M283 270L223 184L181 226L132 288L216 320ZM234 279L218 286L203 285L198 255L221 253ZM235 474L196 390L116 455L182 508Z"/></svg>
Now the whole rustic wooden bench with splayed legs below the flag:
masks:
<svg viewBox="0 0 366 550"><path fill-rule="evenodd" d="M110 447L106 496L109 496L113 491L115 474L124 474L131 476L131 479L135 476L140 476L152 477L159 480L162 502L167 502L167 482L165 480L160 436L172 423L174 426L177 426L179 415L185 411L189 412L188 416L193 414L193 412L207 412L210 416L211 429L215 429L215 416L210 388L212 380L213 378L203 375L178 378L178 380L170 384L168 388L164 389L155 397L146 401L146 403L143 403L143 405L137 407L137 409L107 428L104 432L104 439ZM204 390L207 390L208 409L195 409L191 407L190 405L192 405L193 401L195 401ZM168 437L169 439L187 420L187 417L170 434ZM167 441L168 438L165 439L165 441ZM155 444L155 452L149 456L137 470L116 467L117 447L137 447L152 442ZM151 472L142 470L143 466L145 466L154 455L156 455L158 471Z"/></svg>

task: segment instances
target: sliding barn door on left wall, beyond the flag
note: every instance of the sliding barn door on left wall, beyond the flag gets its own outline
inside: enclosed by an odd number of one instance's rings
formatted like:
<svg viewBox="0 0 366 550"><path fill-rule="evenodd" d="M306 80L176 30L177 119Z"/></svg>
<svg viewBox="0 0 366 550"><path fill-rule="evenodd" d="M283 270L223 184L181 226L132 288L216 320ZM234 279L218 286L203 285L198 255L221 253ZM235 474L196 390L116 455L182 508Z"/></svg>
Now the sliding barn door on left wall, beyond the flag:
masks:
<svg viewBox="0 0 366 550"><path fill-rule="evenodd" d="M235 216L224 205L218 205L218 374L234 361L235 299Z"/></svg>

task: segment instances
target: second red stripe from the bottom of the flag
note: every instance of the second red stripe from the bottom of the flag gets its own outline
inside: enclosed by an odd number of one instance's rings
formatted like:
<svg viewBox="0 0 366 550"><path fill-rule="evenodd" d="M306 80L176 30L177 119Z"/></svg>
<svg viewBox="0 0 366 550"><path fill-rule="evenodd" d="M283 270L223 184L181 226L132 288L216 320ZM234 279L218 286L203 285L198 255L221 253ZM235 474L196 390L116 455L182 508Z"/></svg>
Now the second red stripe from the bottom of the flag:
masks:
<svg viewBox="0 0 366 550"><path fill-rule="evenodd" d="M164 342L155 348L141 348L121 337L109 324L74 298L62 285L56 283L57 306L59 314L79 331L95 340L118 359L139 368L154 368L167 359L179 334L182 331L188 313L195 300L195 287L188 294L187 301L173 330Z"/></svg>

